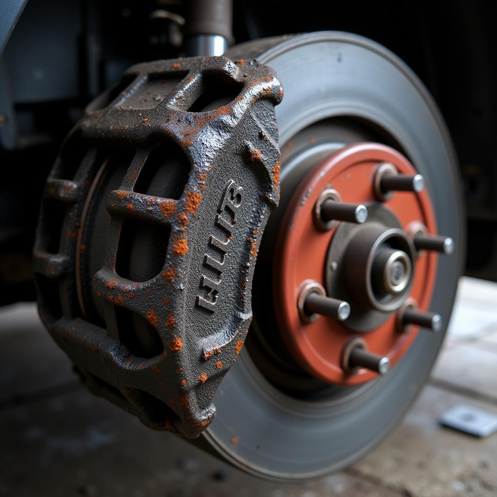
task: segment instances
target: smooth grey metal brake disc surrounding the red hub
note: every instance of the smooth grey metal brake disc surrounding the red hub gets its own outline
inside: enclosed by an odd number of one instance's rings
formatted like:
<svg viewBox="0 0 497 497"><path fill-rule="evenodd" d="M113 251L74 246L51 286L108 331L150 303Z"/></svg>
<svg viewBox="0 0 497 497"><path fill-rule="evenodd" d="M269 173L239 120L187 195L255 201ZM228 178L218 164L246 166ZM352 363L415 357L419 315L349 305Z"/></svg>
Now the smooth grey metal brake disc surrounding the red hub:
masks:
<svg viewBox="0 0 497 497"><path fill-rule="evenodd" d="M270 261L278 256L271 235L277 230L279 211L291 196L292 185L340 142L343 146L369 140L397 148L425 177L439 232L456 241L453 256L439 262L430 306L447 323L465 244L455 156L426 89L397 57L369 40L345 33L313 33L260 40L235 47L227 55L255 57L275 69L284 84L285 99L276 108L282 198L269 220L257 261L256 326L218 389L219 414L203 436L226 459L252 474L306 480L350 465L385 437L426 379L443 332L420 333L385 377L361 387L328 387L299 376L274 326L272 298L279 296L268 295L267 290Z"/></svg>

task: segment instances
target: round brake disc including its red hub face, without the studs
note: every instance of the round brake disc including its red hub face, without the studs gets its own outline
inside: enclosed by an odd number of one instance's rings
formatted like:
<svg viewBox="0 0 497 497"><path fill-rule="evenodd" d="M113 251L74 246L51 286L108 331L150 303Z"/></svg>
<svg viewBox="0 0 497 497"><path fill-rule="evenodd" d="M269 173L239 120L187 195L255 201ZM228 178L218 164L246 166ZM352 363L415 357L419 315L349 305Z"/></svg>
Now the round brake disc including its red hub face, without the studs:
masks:
<svg viewBox="0 0 497 497"><path fill-rule="evenodd" d="M412 327L405 334L397 333L395 313L411 302L412 294L422 310L435 312L448 323L465 245L455 155L426 89L402 61L369 40L313 33L247 43L227 55L270 65L284 85L285 98L276 109L282 193L261 241L247 344L214 398L219 414L203 437L217 453L249 473L279 481L307 480L350 465L379 443L413 402L436 358L444 331ZM358 142L368 145L346 148ZM364 170L357 167L364 181L351 181L345 156L357 159L361 147L368 149ZM378 198L373 198L371 175L387 157L402 172L422 174L426 187L417 195L396 192L374 212L370 204ZM320 174L330 174L323 184ZM307 188L307 205L304 185L310 184L319 188ZM309 278L327 293L335 288L327 265L333 262L333 238L340 226L313 232L313 240L306 238L315 229L309 222L315 201L327 186L347 202L364 203L371 220L383 226L382 233L394 229L406 238L412 235L411 221L420 221L428 233L451 237L456 248L453 255L438 261L433 253L410 254L413 281L402 301L395 301L395 312L386 311L387 319L374 310L372 329L361 330L359 319L347 328L347 321L334 320L330 325L331 318L320 317L307 325L318 327L318 339L306 342L302 336L295 339L307 333L298 314L300 283ZM411 195L410 200L406 195ZM302 214L301 224L301 213L295 209L299 196L302 212L307 209L310 215ZM346 233L343 236L348 240ZM314 247L320 238L323 242ZM291 246L286 246L287 241ZM306 252L308 243L312 249ZM412 249L409 241L406 244L402 251ZM337 245L338 251L343 245ZM304 267L299 263L305 257L309 263ZM354 299L357 307L361 296ZM354 299L350 298L352 318ZM337 338L343 341L337 343ZM392 362L388 374L378 376L363 369L344 374L337 363L343 343L351 338L371 340L371 348L373 342L384 347L379 352ZM319 367L319 361L306 357L302 343L332 364Z"/></svg>

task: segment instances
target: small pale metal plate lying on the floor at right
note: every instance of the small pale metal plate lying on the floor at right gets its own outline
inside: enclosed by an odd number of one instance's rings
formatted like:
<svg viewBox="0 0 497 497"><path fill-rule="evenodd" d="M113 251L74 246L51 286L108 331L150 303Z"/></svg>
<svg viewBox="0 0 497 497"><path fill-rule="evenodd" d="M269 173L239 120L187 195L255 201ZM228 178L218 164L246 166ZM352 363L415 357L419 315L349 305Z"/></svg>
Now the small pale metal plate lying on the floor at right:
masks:
<svg viewBox="0 0 497 497"><path fill-rule="evenodd" d="M466 404L457 404L445 411L439 421L444 426L481 438L497 431L497 414Z"/></svg>

